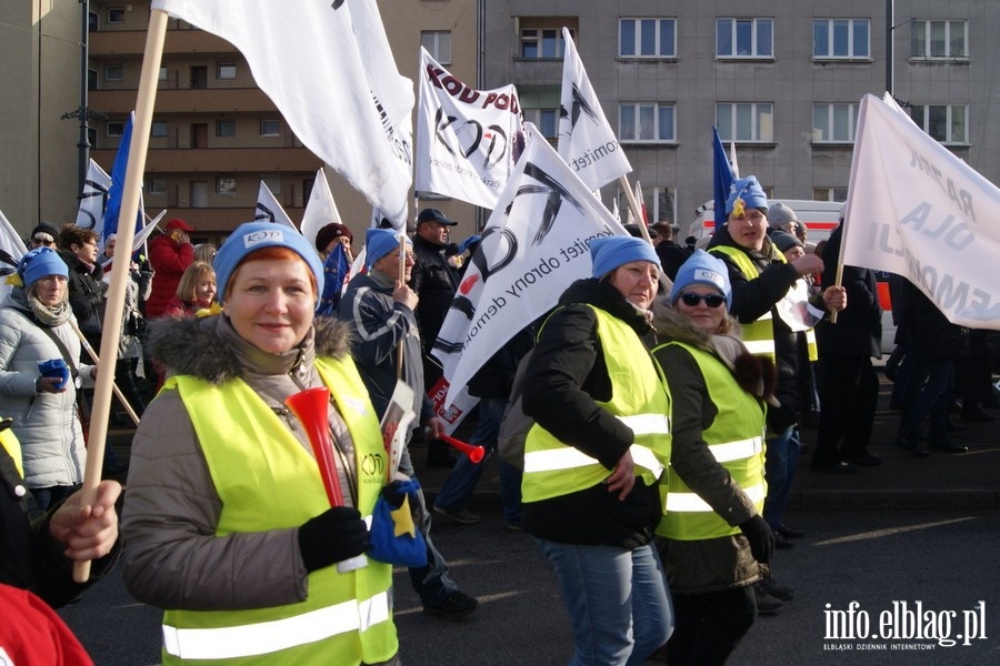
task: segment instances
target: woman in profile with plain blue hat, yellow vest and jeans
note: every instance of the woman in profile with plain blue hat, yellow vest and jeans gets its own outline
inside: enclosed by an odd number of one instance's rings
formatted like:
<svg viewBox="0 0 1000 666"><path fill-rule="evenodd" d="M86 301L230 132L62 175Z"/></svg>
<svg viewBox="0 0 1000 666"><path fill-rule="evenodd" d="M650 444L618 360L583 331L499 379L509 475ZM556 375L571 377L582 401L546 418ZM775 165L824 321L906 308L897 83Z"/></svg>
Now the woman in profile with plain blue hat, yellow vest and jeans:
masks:
<svg viewBox="0 0 1000 666"><path fill-rule="evenodd" d="M572 664L641 664L672 628L652 547L670 457L669 396L648 346L659 260L631 236L590 241L593 278L546 320L524 376L523 528L556 569Z"/></svg>

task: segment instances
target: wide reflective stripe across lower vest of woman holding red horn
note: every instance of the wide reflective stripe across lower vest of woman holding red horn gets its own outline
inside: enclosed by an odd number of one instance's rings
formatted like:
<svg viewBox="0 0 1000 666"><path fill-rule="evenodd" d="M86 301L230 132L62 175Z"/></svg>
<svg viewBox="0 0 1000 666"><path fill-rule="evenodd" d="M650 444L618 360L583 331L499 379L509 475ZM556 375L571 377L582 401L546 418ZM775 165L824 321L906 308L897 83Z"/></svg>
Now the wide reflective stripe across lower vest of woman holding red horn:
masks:
<svg viewBox="0 0 1000 666"><path fill-rule="evenodd" d="M267 655L346 632L364 632L389 619L384 592L302 615L234 627L179 629L163 625L163 648L181 659L233 659Z"/></svg>

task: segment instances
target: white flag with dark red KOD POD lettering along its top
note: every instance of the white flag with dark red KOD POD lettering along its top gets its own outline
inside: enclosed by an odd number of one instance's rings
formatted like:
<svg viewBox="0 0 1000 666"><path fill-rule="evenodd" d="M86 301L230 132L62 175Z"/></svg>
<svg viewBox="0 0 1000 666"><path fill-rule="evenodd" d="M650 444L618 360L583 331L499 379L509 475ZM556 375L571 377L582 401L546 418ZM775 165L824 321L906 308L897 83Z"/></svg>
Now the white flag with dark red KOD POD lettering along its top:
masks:
<svg viewBox="0 0 1000 666"><path fill-rule="evenodd" d="M514 87L473 90L420 49L416 189L492 209L523 149Z"/></svg>

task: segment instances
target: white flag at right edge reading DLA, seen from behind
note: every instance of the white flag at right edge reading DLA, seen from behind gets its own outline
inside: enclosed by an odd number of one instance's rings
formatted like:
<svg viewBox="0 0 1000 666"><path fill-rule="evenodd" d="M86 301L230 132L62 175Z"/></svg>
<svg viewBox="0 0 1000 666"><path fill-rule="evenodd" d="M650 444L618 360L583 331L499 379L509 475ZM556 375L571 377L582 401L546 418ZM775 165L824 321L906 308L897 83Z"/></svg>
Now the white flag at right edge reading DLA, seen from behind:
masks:
<svg viewBox="0 0 1000 666"><path fill-rule="evenodd" d="M952 323L1000 330L1000 190L897 109L861 100L843 263L903 275Z"/></svg>

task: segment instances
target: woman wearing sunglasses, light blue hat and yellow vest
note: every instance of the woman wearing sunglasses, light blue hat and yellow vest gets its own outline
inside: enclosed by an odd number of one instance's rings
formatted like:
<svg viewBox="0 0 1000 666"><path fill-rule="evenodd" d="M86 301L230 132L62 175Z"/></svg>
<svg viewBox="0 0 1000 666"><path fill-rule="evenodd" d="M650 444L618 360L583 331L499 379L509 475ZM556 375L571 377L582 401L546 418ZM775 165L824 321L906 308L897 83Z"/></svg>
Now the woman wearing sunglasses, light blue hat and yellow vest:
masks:
<svg viewBox="0 0 1000 666"><path fill-rule="evenodd" d="M774 364L751 355L728 314L726 264L697 250L653 304L653 350L673 398L673 447L658 546L673 598L671 664L722 664L757 618L758 563L774 537L761 517L766 398ZM773 401L773 397L770 397Z"/></svg>

